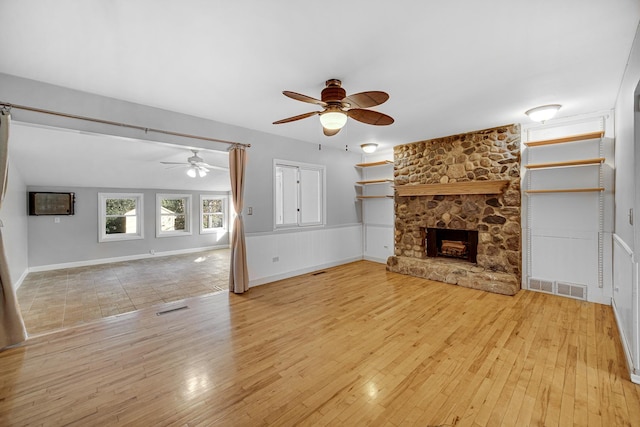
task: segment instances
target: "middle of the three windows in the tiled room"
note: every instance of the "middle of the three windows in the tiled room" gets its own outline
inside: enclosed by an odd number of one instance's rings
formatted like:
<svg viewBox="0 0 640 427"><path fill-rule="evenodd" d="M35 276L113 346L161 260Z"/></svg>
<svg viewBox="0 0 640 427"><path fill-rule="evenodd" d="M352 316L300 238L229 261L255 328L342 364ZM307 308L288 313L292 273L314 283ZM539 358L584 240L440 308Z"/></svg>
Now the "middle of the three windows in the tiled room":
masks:
<svg viewBox="0 0 640 427"><path fill-rule="evenodd" d="M156 194L156 236L191 234L191 194Z"/></svg>

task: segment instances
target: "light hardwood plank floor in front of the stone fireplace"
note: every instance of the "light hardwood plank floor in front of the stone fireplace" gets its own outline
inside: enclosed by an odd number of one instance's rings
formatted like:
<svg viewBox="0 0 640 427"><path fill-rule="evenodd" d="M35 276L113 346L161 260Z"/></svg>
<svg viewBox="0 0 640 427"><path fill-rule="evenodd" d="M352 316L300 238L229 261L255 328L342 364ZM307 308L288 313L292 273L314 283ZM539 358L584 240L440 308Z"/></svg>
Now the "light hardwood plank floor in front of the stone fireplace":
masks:
<svg viewBox="0 0 640 427"><path fill-rule="evenodd" d="M611 307L360 261L0 352L0 425L640 425Z"/></svg>

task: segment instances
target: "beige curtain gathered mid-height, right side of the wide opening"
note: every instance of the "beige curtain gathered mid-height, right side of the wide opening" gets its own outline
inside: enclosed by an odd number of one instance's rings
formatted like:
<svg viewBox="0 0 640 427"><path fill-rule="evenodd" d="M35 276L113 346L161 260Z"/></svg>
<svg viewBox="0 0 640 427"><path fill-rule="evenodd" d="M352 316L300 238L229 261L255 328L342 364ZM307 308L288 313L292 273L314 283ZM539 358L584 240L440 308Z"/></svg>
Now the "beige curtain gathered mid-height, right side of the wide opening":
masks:
<svg viewBox="0 0 640 427"><path fill-rule="evenodd" d="M231 234L231 268L229 269L229 291L241 294L249 290L247 270L247 249L244 243L244 172L247 166L247 152L244 147L233 146L229 150L229 174L231 175L231 198L236 217Z"/></svg>

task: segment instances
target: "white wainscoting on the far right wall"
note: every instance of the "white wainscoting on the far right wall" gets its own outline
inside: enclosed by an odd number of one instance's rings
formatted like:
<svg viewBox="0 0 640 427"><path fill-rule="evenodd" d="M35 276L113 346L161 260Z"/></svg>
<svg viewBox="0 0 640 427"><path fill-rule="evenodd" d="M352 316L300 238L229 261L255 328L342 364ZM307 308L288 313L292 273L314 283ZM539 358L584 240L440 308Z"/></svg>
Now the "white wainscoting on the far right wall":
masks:
<svg viewBox="0 0 640 427"><path fill-rule="evenodd" d="M613 311L631 379L640 383L640 319L638 314L638 264L633 251L617 235L613 236Z"/></svg>

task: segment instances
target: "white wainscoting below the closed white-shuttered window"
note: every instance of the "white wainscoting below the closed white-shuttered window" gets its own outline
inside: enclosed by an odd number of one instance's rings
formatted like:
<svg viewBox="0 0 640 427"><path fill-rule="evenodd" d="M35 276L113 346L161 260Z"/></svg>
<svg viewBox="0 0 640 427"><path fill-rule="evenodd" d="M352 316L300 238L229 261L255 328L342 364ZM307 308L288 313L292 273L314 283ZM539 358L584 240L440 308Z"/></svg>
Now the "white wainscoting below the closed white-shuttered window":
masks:
<svg viewBox="0 0 640 427"><path fill-rule="evenodd" d="M362 259L362 224L247 233L249 285Z"/></svg>

